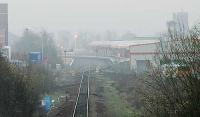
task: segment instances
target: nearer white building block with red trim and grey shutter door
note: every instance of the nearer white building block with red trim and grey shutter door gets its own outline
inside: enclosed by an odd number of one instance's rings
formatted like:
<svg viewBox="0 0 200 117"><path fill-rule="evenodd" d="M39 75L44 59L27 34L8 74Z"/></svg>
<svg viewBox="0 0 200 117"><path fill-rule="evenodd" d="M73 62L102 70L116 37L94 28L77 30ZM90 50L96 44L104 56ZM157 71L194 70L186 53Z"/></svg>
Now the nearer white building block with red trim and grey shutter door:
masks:
<svg viewBox="0 0 200 117"><path fill-rule="evenodd" d="M130 46L130 69L136 72L148 70L151 65L155 65L155 55L159 54L157 47L159 41L151 40L142 44Z"/></svg>

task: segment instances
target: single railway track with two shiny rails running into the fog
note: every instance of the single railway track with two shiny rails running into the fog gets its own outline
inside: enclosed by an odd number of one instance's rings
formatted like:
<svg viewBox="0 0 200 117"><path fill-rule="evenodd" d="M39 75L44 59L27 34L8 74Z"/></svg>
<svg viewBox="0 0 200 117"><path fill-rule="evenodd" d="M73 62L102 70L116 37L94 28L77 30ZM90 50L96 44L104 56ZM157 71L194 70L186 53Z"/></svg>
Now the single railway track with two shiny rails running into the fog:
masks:
<svg viewBox="0 0 200 117"><path fill-rule="evenodd" d="M89 116L90 73L83 72L72 117Z"/></svg>

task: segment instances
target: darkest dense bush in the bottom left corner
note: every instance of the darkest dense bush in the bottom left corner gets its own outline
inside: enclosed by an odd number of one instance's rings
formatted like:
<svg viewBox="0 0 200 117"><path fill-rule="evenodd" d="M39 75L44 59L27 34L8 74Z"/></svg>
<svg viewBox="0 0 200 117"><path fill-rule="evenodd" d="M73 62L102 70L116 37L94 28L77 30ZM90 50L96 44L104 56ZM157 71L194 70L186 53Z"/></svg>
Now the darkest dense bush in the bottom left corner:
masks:
<svg viewBox="0 0 200 117"><path fill-rule="evenodd" d="M0 116L31 117L39 104L37 83L0 56Z"/></svg>

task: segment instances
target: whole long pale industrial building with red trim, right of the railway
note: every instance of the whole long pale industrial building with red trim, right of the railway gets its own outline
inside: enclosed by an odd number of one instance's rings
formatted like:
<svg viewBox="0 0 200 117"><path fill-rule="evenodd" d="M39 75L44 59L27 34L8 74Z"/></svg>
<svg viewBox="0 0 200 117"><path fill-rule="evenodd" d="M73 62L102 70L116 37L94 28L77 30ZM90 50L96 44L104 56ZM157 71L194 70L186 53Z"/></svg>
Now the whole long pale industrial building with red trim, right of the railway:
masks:
<svg viewBox="0 0 200 117"><path fill-rule="evenodd" d="M117 62L129 62L130 70L144 71L154 64L159 40L94 41L89 44L95 56L112 57Z"/></svg>

